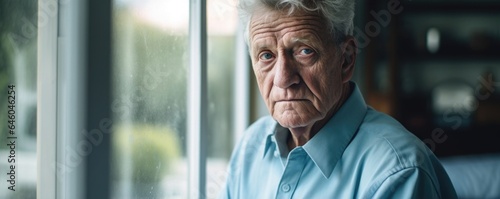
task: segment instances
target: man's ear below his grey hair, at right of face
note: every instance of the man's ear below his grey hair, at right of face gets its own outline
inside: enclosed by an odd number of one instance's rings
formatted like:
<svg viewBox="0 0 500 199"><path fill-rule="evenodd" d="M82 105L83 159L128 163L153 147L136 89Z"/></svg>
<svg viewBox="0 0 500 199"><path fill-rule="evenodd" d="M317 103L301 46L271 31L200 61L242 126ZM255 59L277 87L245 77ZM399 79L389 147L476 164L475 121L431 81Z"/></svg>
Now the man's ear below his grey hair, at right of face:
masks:
<svg viewBox="0 0 500 199"><path fill-rule="evenodd" d="M341 44L342 50L342 82L347 83L351 80L356 63L357 43L353 36L346 36Z"/></svg>

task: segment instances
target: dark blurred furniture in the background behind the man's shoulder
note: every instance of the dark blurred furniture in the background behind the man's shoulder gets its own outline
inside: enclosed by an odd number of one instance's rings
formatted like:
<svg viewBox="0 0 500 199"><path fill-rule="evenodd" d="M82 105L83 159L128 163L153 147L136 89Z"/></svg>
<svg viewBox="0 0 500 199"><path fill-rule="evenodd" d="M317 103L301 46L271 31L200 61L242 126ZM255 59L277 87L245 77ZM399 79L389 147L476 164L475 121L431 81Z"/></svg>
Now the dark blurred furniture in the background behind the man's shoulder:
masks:
<svg viewBox="0 0 500 199"><path fill-rule="evenodd" d="M387 17L387 1L366 1L368 104L439 157L499 153L500 2L400 3Z"/></svg>

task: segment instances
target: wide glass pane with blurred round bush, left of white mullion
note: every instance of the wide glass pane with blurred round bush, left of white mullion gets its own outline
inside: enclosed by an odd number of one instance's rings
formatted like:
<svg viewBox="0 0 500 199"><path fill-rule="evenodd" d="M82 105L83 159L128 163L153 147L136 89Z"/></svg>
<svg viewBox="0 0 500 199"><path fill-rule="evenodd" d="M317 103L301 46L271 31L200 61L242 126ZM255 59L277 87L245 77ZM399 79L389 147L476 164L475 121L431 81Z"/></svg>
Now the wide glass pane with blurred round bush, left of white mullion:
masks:
<svg viewBox="0 0 500 199"><path fill-rule="evenodd" d="M187 198L189 1L113 4L112 198Z"/></svg>

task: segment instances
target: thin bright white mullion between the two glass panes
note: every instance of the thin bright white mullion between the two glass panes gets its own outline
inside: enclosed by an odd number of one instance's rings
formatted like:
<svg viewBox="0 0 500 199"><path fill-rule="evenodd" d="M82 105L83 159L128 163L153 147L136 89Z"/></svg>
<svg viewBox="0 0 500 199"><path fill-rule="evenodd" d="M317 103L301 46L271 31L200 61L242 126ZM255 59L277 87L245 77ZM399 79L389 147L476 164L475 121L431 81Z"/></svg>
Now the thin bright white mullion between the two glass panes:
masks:
<svg viewBox="0 0 500 199"><path fill-rule="evenodd" d="M191 0L189 17L188 165L189 198L205 198L206 113L207 113L207 29L206 1Z"/></svg>

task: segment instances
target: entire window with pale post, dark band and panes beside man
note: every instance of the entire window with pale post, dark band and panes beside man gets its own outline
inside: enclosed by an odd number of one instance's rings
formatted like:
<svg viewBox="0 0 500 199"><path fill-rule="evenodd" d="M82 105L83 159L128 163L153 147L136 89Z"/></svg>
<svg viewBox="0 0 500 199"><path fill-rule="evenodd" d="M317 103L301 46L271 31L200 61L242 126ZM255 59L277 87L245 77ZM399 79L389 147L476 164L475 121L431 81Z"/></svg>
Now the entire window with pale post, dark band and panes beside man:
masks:
<svg viewBox="0 0 500 199"><path fill-rule="evenodd" d="M249 66L236 1L193 2L40 2L37 197L218 196Z"/></svg>

